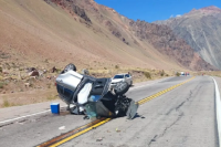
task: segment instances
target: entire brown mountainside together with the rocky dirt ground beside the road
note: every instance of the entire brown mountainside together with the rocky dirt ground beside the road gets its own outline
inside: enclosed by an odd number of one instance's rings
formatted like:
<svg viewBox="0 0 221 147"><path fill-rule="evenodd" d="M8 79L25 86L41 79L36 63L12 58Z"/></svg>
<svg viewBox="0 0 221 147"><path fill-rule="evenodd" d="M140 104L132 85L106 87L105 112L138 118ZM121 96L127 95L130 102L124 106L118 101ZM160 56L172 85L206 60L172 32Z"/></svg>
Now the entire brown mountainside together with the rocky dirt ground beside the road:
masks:
<svg viewBox="0 0 221 147"><path fill-rule="evenodd" d="M129 72L135 83L217 70L169 28L93 0L0 0L0 108L57 98L54 81L69 63L96 77Z"/></svg>

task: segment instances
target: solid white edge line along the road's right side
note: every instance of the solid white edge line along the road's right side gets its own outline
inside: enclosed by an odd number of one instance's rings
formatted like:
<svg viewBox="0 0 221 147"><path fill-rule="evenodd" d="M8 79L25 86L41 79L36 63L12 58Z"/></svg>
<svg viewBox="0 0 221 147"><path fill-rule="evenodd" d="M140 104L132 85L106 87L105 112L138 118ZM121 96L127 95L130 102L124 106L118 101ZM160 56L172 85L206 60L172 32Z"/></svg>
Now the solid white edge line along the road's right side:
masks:
<svg viewBox="0 0 221 147"><path fill-rule="evenodd" d="M213 78L213 77L212 77ZM218 139L219 139L219 147L221 147L221 102L220 102L220 91L218 88L218 84L213 78L214 86L215 86L215 112L217 112L217 125L218 125Z"/></svg>

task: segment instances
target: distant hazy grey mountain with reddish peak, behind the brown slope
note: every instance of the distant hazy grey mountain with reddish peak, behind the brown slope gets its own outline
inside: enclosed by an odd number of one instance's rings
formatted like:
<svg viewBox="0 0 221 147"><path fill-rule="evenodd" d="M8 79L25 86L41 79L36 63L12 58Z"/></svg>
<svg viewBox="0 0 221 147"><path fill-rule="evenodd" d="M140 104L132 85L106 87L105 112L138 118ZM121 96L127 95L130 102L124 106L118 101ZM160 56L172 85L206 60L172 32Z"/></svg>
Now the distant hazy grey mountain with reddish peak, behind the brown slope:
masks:
<svg viewBox="0 0 221 147"><path fill-rule="evenodd" d="M189 13L157 21L182 38L204 61L221 69L221 9L207 7Z"/></svg>

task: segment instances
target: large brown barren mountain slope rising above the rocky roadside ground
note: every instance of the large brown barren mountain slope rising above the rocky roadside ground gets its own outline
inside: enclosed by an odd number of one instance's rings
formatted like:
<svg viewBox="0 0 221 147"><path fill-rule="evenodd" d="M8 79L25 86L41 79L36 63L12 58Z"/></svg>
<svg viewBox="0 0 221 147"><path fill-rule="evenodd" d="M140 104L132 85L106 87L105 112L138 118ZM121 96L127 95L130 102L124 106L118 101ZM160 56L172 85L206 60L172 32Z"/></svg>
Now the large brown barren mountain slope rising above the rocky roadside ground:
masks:
<svg viewBox="0 0 221 147"><path fill-rule="evenodd" d="M0 0L1 64L215 70L166 25L93 0Z"/></svg>

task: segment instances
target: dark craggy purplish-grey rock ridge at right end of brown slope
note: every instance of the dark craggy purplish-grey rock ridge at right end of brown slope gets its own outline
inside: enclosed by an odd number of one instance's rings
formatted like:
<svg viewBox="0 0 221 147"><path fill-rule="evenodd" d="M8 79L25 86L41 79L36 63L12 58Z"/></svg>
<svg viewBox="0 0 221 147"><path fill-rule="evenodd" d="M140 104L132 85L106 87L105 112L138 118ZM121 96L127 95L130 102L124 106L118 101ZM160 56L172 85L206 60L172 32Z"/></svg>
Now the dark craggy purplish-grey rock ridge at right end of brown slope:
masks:
<svg viewBox="0 0 221 147"><path fill-rule="evenodd" d="M177 38L167 25L157 25L145 21L130 21L135 35L140 40L147 40L160 53L178 61L181 65L192 70L213 70L186 43Z"/></svg>

